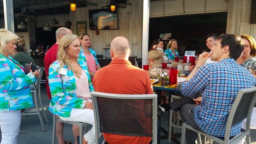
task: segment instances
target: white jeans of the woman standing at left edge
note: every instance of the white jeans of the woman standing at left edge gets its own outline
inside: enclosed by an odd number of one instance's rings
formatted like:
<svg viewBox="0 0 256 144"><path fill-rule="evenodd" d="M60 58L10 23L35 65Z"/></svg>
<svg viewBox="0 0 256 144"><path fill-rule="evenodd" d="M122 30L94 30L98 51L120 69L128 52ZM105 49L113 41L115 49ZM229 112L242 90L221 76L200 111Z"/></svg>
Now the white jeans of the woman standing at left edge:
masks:
<svg viewBox="0 0 256 144"><path fill-rule="evenodd" d="M0 112L1 144L17 144L20 131L21 111Z"/></svg>

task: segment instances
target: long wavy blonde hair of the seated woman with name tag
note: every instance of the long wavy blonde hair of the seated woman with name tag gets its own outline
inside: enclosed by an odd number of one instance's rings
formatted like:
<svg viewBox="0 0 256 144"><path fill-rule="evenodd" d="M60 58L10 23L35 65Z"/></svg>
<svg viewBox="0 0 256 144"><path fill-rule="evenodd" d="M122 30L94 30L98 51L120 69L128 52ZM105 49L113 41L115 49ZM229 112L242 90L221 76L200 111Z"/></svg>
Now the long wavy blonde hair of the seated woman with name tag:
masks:
<svg viewBox="0 0 256 144"><path fill-rule="evenodd" d="M67 49L69 48L70 43L75 40L75 39L79 39L77 35L74 34L66 34L64 35L61 39L60 39L60 43L59 43L59 50L58 50L58 54L57 54L57 60L60 61L60 68L64 67L65 64L68 66L69 69L71 69L71 71L73 73L75 73L77 75L78 78L80 78L78 71L76 71L70 64L70 61L68 59L68 55L67 55Z"/></svg>

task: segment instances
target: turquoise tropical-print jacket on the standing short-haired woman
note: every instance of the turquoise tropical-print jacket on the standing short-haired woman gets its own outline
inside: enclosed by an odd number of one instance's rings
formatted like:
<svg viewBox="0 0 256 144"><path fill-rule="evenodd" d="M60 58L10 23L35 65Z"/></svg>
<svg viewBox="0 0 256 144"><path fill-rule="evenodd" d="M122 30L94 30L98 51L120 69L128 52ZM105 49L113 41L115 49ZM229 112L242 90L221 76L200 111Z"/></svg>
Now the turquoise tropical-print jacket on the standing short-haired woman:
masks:
<svg viewBox="0 0 256 144"><path fill-rule="evenodd" d="M36 78L32 73L26 75L23 66L9 58L12 61L0 54L0 112L33 106L29 85L36 82Z"/></svg>

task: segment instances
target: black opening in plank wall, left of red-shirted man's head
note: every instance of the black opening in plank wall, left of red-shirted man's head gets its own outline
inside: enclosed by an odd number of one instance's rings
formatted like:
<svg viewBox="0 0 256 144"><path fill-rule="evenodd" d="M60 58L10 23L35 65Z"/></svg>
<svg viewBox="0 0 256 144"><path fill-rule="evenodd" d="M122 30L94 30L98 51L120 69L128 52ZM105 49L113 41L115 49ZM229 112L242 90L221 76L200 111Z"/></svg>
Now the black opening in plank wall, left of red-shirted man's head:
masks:
<svg viewBox="0 0 256 144"><path fill-rule="evenodd" d="M60 26L62 27L62 26ZM51 47L53 44L56 43L56 36L55 32L60 27L52 27L52 31L44 31L43 27L37 27L36 28L36 44L44 43L45 48L47 48L47 45ZM66 28L70 29L70 26L64 26Z"/></svg>

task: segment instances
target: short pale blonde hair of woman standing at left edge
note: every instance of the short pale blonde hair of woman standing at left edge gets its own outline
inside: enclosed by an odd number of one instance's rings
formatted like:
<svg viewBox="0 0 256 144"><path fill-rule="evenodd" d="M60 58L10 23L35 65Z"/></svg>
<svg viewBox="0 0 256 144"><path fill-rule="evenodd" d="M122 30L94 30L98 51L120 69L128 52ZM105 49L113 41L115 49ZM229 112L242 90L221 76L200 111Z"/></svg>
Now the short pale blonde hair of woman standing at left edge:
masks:
<svg viewBox="0 0 256 144"><path fill-rule="evenodd" d="M0 53L3 54L3 50L6 47L6 43L12 40L17 41L18 39L19 37L16 34L5 29L0 29Z"/></svg>

